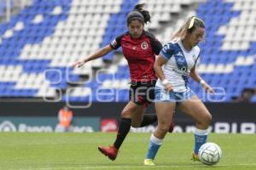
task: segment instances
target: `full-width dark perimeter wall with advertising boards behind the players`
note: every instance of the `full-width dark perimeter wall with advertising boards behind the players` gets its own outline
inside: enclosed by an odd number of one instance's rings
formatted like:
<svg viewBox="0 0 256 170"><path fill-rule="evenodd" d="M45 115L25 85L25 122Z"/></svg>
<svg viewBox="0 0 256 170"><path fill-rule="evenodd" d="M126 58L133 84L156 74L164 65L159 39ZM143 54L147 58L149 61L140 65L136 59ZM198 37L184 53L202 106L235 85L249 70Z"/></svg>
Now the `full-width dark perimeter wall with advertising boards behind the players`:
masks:
<svg viewBox="0 0 256 170"><path fill-rule="evenodd" d="M15 107L14 107L15 105ZM16 132L58 132L57 113L64 103L4 102L0 103L0 131L15 129ZM82 105L82 104L79 104ZM126 103L93 103L90 108L73 111L71 132L113 132L117 130L121 111ZM206 103L212 114L210 130L213 133L256 133L256 105L250 103ZM28 109L29 108L29 109ZM155 114L149 105L146 114ZM79 117L79 118L78 118ZM115 121L117 120L117 121ZM195 121L178 110L174 116L174 132L189 133ZM133 132L153 132L156 124L131 128Z"/></svg>

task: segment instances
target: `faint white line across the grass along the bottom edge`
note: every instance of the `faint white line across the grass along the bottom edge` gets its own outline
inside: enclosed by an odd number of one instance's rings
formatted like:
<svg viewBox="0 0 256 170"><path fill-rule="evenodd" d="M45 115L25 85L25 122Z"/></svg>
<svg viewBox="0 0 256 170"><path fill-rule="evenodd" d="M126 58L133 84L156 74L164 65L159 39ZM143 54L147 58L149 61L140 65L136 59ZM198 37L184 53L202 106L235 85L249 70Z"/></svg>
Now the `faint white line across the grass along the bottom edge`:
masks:
<svg viewBox="0 0 256 170"><path fill-rule="evenodd" d="M201 167L203 165L156 165L150 167ZM213 167L236 167L236 166L256 166L256 164L230 164L230 165L219 165ZM210 167L210 166L209 166ZM148 166L96 166L96 167L38 167L38 168L26 168L26 169L19 169L19 170L68 170L68 169L131 169L131 168L148 168ZM15 169L14 169L15 170Z"/></svg>

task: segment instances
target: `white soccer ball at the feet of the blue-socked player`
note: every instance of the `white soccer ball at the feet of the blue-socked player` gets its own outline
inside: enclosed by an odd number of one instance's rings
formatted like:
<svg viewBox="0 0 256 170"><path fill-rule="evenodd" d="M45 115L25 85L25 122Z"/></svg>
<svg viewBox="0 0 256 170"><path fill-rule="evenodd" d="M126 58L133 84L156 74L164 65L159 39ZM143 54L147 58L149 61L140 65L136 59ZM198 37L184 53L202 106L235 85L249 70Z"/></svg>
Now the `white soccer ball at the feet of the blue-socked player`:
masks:
<svg viewBox="0 0 256 170"><path fill-rule="evenodd" d="M218 163L222 155L222 151L218 144L206 143L202 144L198 156L202 163L206 165L214 165Z"/></svg>

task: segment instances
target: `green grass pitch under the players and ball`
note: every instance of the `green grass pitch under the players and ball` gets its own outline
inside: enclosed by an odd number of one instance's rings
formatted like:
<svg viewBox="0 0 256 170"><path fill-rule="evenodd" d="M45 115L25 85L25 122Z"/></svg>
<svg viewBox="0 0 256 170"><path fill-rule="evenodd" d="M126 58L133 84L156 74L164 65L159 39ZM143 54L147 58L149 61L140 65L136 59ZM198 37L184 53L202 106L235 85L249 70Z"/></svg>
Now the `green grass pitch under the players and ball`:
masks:
<svg viewBox="0 0 256 170"><path fill-rule="evenodd" d="M115 161L98 150L113 143L115 133L0 133L1 170L83 169L256 169L255 134L215 134L208 141L220 145L222 159L215 166L190 160L192 133L168 133L155 159L156 166L143 166L150 133L129 133Z"/></svg>

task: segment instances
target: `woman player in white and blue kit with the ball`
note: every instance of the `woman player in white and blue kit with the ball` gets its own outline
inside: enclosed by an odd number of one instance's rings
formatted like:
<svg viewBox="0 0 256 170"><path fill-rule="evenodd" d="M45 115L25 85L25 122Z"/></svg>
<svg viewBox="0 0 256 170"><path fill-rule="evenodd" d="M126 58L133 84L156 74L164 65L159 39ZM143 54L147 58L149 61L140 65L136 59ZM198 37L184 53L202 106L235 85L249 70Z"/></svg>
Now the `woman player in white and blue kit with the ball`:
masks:
<svg viewBox="0 0 256 170"><path fill-rule="evenodd" d="M196 62L200 56L197 46L205 34L204 22L190 17L177 31L173 42L167 43L154 62L154 71L159 77L155 85L155 109L158 116L158 127L150 137L148 154L144 165L154 165L154 157L168 132L172 113L178 108L191 116L195 122L195 149L192 153L194 161L198 161L198 150L207 141L207 128L212 116L206 106L188 86L189 76L209 93L213 89L196 71Z"/></svg>

